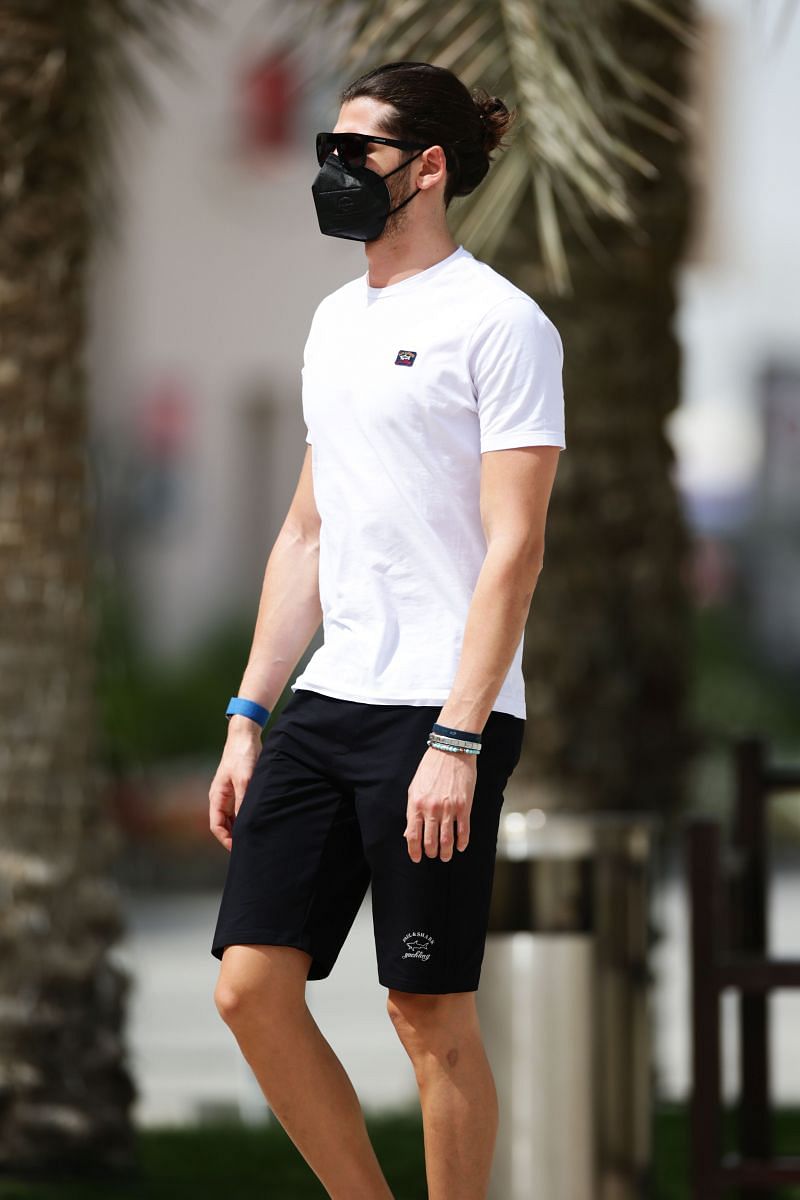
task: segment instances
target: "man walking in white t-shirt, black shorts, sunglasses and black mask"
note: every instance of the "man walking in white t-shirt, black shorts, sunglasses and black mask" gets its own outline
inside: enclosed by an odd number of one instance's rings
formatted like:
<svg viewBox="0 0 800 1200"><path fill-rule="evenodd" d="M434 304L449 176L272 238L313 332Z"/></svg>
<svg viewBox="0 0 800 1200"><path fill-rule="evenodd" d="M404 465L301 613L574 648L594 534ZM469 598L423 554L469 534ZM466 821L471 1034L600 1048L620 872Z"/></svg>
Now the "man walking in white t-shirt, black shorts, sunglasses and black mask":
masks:
<svg viewBox="0 0 800 1200"><path fill-rule="evenodd" d="M558 457L563 349L446 210L512 121L450 71L390 62L317 136L320 232L368 269L317 306L306 456L269 556L210 788L230 851L217 1008L335 1200L391 1190L305 1001L367 888L377 970L420 1088L429 1200L483 1200L498 1098L475 1006L522 643ZM324 643L270 712L319 628Z"/></svg>

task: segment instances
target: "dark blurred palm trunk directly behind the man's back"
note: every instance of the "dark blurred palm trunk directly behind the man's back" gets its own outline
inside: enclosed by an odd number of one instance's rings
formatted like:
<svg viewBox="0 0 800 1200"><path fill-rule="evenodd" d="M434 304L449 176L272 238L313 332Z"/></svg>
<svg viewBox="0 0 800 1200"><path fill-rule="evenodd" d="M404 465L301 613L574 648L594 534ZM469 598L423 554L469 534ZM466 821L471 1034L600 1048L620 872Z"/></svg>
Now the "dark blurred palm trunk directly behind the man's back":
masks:
<svg viewBox="0 0 800 1200"><path fill-rule="evenodd" d="M673 7L691 18L691 4ZM684 46L634 8L615 11L620 58L682 95ZM565 347L567 450L525 636L530 754L517 769L546 806L675 812L690 748L688 535L664 419L679 398L673 320L687 148L638 124L622 138L660 170L630 176L643 236L593 221L600 260L564 221L566 298L546 295L543 274L524 265L528 212L499 256L498 269L540 299Z"/></svg>

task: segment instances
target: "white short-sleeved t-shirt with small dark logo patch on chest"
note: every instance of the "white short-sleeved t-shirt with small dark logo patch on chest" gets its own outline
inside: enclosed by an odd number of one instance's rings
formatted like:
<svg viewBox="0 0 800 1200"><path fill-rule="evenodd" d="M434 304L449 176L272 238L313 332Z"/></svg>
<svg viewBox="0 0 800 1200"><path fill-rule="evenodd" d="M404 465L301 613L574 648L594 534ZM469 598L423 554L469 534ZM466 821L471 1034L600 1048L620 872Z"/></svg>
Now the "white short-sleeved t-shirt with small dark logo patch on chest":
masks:
<svg viewBox="0 0 800 1200"><path fill-rule="evenodd" d="M536 301L461 245L368 278L320 301L303 352L324 643L291 690L441 704L487 550L481 454L566 448L564 352ZM522 718L523 641L493 704Z"/></svg>

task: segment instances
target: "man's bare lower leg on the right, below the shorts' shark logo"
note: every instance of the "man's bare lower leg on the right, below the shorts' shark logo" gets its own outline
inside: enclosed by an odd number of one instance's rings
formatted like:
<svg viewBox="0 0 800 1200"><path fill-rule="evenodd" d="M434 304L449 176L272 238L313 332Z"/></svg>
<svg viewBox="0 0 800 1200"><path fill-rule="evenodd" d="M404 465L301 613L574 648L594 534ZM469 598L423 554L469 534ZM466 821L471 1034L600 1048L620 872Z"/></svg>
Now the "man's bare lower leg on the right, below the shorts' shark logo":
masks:
<svg viewBox="0 0 800 1200"><path fill-rule="evenodd" d="M499 1108L475 995L389 990L420 1088L428 1200L486 1200L489 1186Z"/></svg>

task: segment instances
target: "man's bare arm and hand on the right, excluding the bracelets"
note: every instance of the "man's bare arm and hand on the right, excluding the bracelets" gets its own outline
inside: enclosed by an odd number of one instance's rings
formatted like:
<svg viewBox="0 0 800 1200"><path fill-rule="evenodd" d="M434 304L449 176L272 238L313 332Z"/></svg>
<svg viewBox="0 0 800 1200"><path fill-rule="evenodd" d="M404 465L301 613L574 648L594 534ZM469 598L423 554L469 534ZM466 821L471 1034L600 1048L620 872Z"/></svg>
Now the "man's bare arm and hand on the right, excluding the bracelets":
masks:
<svg viewBox="0 0 800 1200"><path fill-rule="evenodd" d="M545 560L545 524L560 449L523 445L481 455L481 522L487 552L470 601L452 689L438 722L480 733L523 635ZM414 862L422 848L452 857L469 841L477 764L474 755L428 746L409 787L405 838Z"/></svg>

